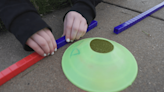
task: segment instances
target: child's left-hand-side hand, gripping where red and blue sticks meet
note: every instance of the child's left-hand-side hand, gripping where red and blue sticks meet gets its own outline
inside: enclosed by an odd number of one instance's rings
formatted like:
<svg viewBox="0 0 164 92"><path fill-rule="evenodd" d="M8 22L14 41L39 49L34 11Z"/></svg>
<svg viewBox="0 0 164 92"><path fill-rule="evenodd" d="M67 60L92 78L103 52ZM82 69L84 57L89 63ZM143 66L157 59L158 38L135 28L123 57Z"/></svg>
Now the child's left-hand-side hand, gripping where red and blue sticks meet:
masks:
<svg viewBox="0 0 164 92"><path fill-rule="evenodd" d="M26 44L41 56L53 55L57 51L55 38L47 28L32 35Z"/></svg>

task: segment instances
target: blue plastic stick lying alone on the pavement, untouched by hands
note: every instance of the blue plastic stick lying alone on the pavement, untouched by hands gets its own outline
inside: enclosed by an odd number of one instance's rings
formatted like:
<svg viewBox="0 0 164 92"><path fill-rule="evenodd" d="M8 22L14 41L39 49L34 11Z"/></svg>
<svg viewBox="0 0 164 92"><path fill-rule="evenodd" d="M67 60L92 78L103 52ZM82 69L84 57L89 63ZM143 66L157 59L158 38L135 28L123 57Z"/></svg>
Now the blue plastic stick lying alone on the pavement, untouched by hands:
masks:
<svg viewBox="0 0 164 92"><path fill-rule="evenodd" d="M131 26L135 25L139 21L143 20L144 18L150 16L152 13L158 11L159 9L164 7L164 2L154 6L153 8L141 13L140 15L122 23L121 25L118 25L117 27L114 28L114 33L119 34L122 31L130 28Z"/></svg>

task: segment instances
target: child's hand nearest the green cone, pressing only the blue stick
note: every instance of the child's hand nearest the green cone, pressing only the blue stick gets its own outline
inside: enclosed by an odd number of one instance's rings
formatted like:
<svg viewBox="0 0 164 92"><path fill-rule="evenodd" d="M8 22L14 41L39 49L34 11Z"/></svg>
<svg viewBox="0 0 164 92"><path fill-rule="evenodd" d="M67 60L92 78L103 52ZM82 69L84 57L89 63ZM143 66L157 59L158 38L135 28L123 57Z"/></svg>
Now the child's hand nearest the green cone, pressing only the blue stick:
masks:
<svg viewBox="0 0 164 92"><path fill-rule="evenodd" d="M87 21L81 14L75 11L70 11L64 19L63 36L66 35L67 42L73 42L85 35L87 27Z"/></svg>

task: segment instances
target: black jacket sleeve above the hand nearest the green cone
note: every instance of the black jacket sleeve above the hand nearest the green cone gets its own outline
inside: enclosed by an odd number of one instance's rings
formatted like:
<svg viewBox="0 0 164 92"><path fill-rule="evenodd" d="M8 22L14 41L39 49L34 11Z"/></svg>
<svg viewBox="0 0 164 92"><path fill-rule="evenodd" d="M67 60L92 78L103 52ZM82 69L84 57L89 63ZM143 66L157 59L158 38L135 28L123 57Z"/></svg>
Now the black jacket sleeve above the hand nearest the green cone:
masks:
<svg viewBox="0 0 164 92"><path fill-rule="evenodd" d="M87 24L89 25L96 17L95 7L101 1L102 0L72 0L73 7L69 11L76 11L80 13L87 20Z"/></svg>

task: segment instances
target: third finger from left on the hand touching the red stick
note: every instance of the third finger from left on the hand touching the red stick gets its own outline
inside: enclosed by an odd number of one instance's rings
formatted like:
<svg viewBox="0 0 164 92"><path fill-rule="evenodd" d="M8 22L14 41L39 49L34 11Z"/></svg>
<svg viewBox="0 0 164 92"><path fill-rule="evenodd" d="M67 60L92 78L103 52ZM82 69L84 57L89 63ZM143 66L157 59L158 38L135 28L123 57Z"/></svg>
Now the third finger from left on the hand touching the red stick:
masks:
<svg viewBox="0 0 164 92"><path fill-rule="evenodd" d="M43 37L46 42L47 42L47 45L49 46L49 49L50 49L50 52L49 53L52 53L54 52L54 46L52 44L52 41L51 41L51 38L49 37L49 35L45 32L45 30L41 30L39 32L37 32L38 35L40 35L41 37Z"/></svg>

